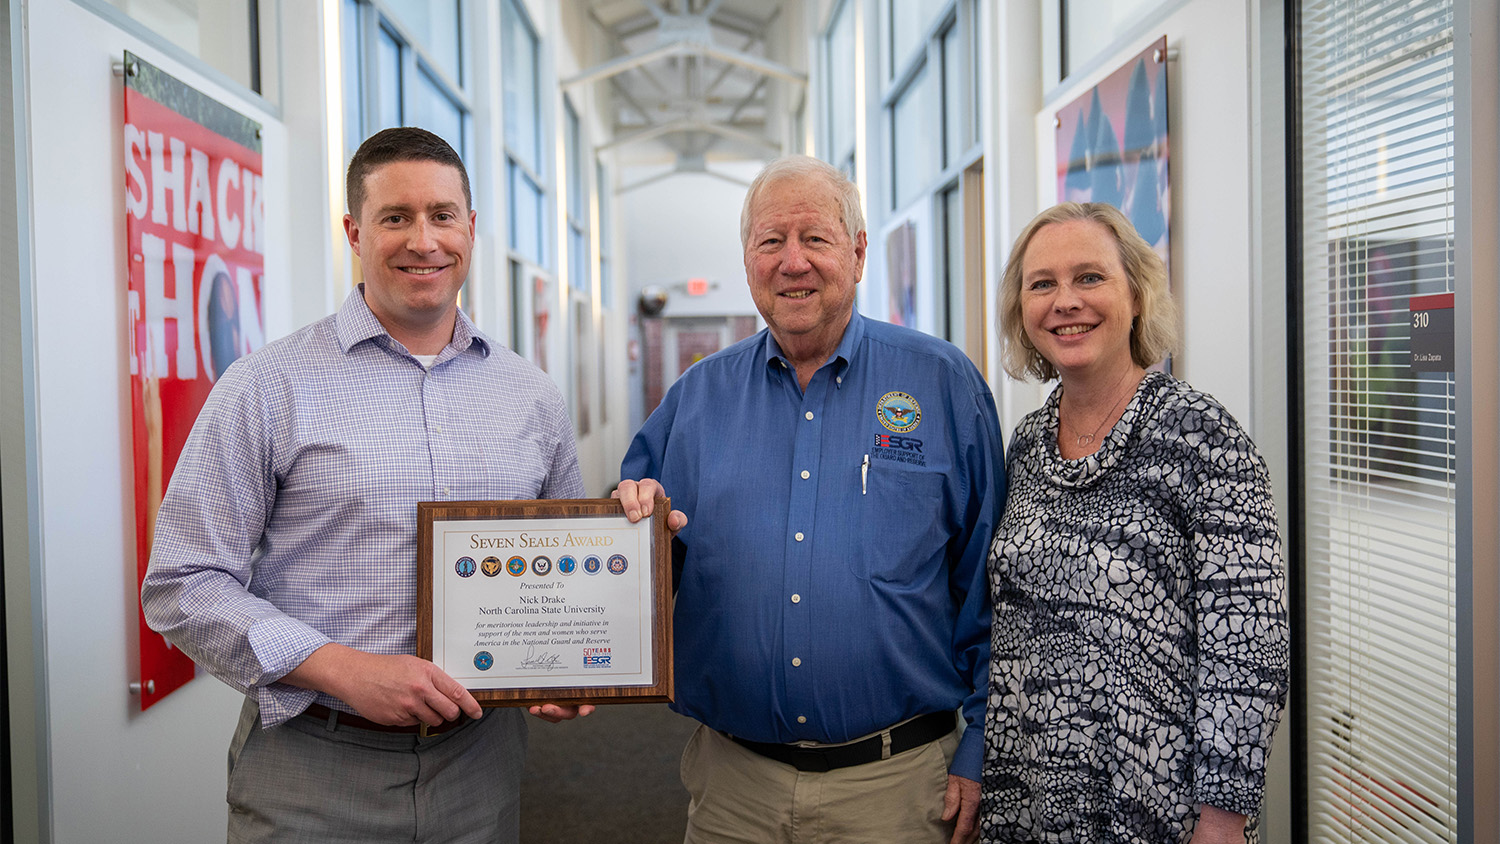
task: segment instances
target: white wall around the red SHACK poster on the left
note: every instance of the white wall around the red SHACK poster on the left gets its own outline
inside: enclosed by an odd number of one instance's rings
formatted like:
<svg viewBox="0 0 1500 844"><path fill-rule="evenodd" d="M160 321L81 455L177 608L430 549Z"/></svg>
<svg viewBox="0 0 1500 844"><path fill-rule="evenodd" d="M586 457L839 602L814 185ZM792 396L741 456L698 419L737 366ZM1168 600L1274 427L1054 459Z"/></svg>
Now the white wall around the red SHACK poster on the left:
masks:
<svg viewBox="0 0 1500 844"><path fill-rule="evenodd" d="M285 6L288 52L298 54L288 72L300 73L298 84L285 90L316 99L316 6ZM128 684L140 679L138 606L123 88L111 63L124 49L136 52L264 126L268 337L294 327L294 280L324 283L324 267L309 270L294 261L291 237L303 217L310 216L314 226L324 222L324 211L278 210L294 207L290 174L326 169L316 138L290 144L285 127L261 105L99 15L69 0L36 0L26 12L46 672L39 729L51 747L44 766L51 771L51 817L40 820L40 835L66 843L212 841L225 829L225 751L240 694L207 676L147 712L128 694ZM309 246L304 238L303 249L328 253L327 240L315 240L320 244ZM18 829L27 826L22 820Z"/></svg>

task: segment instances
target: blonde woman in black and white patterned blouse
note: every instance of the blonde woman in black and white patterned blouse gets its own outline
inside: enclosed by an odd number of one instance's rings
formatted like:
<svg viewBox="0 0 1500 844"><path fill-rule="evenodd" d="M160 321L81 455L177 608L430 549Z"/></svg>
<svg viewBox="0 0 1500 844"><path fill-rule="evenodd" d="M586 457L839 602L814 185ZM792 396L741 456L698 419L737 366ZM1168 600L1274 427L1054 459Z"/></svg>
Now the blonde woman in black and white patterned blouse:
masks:
<svg viewBox="0 0 1500 844"><path fill-rule="evenodd" d="M988 559L982 840L1254 840L1287 693L1264 462L1148 370L1176 309L1116 208L1044 211L1000 285L1005 369L1059 384L1011 439Z"/></svg>

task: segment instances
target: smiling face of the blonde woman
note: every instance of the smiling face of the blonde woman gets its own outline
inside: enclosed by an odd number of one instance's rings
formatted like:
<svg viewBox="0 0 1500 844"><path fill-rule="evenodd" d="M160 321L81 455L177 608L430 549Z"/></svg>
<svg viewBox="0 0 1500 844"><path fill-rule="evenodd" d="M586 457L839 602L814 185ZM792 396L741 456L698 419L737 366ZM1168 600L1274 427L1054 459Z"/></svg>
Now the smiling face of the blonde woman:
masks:
<svg viewBox="0 0 1500 844"><path fill-rule="evenodd" d="M1065 220L1032 235L1022 258L1022 325L1065 382L1134 366L1130 336L1138 315L1108 228Z"/></svg>

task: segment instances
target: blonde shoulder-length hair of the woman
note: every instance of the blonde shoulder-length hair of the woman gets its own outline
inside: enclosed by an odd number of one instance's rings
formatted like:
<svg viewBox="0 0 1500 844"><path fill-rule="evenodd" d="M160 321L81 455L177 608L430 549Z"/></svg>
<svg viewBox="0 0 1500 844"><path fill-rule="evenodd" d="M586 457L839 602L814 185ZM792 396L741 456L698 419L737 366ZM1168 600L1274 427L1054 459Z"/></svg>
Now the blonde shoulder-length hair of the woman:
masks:
<svg viewBox="0 0 1500 844"><path fill-rule="evenodd" d="M1140 307L1140 316L1131 325L1130 354L1137 366L1160 363L1178 348L1178 304L1167 288L1167 267L1152 250L1136 226L1114 205L1104 202L1062 202L1036 214L1016 238L1011 256L1000 276L1000 361L1011 378L1036 378L1052 381L1058 370L1041 357L1026 339L1022 318L1022 264L1026 249L1042 226L1068 220L1090 220L1102 225L1114 235L1120 252L1125 277L1130 279L1131 295Z"/></svg>

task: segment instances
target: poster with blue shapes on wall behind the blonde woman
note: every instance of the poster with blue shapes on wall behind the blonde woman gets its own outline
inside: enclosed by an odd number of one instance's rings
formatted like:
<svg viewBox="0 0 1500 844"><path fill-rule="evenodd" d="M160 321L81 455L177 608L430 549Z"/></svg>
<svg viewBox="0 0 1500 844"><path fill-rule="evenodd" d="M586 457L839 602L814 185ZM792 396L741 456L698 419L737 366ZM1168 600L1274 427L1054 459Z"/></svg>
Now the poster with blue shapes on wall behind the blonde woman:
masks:
<svg viewBox="0 0 1500 844"><path fill-rule="evenodd" d="M1167 37L1058 111L1058 201L1108 202L1172 271Z"/></svg>

